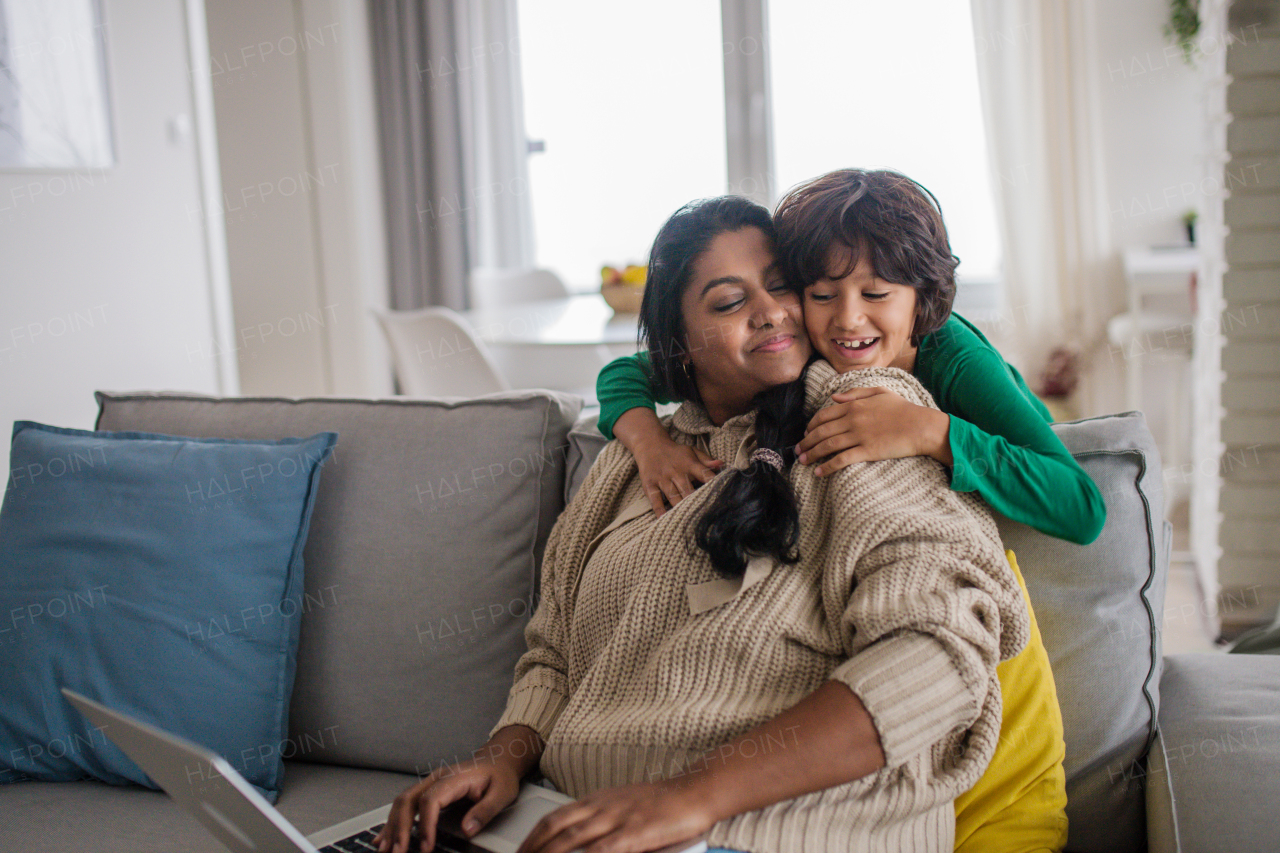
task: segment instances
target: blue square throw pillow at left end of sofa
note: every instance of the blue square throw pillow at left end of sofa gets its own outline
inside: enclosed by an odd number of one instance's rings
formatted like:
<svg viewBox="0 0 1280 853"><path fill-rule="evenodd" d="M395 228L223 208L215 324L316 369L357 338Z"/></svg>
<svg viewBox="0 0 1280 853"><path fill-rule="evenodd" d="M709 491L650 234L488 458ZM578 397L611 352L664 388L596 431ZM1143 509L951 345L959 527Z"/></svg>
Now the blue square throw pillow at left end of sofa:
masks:
<svg viewBox="0 0 1280 853"><path fill-rule="evenodd" d="M72 688L275 800L302 546L337 433L182 438L18 421L0 507L0 781L150 779Z"/></svg>

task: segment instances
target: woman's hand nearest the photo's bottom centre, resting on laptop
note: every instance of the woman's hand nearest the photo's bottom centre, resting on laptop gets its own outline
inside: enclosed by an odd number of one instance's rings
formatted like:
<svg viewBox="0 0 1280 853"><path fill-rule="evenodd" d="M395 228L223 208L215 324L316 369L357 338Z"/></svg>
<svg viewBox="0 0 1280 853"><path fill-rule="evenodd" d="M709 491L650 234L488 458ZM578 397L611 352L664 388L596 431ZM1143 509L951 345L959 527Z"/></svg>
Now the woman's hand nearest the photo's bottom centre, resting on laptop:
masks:
<svg viewBox="0 0 1280 853"><path fill-rule="evenodd" d="M643 853L696 838L714 822L687 785L607 788L538 821L516 853Z"/></svg>

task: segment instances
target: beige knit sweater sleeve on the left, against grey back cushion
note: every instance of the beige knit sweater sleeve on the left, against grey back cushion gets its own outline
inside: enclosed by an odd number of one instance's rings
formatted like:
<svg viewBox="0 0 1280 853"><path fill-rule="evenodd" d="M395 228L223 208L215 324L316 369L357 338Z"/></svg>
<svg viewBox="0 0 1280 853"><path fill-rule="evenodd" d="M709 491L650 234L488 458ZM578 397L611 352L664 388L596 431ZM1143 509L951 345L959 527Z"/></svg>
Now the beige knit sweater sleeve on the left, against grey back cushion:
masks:
<svg viewBox="0 0 1280 853"><path fill-rule="evenodd" d="M611 510L634 467L622 444L605 446L573 501L552 528L543 552L538 608L525 626L529 651L516 662L507 707L489 736L504 726L525 725L547 740L568 704L572 694L567 663L572 590L577 588L588 546L613 517Z"/></svg>

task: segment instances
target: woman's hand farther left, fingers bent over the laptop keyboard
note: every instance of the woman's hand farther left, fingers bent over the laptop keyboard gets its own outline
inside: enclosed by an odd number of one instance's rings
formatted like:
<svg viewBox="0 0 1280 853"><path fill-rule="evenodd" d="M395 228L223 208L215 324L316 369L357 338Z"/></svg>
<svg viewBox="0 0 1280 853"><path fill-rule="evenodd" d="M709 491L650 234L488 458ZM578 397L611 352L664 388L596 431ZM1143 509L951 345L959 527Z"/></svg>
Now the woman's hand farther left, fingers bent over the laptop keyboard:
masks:
<svg viewBox="0 0 1280 853"><path fill-rule="evenodd" d="M468 797L475 802L462 818L467 838L475 835L493 816L516 802L520 774L511 763L490 758L472 758L431 771L431 775L408 788L392 803L387 825L374 843L383 853L408 853L415 817L424 850L435 847L435 825L449 803Z"/></svg>

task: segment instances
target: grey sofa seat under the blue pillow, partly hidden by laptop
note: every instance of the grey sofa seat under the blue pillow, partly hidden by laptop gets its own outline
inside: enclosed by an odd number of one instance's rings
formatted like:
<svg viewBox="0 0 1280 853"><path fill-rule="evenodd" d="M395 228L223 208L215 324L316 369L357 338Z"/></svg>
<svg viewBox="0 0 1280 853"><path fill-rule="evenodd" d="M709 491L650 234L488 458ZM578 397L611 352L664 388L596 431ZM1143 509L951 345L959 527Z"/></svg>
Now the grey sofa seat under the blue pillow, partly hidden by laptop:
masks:
<svg viewBox="0 0 1280 853"><path fill-rule="evenodd" d="M407 774L287 761L275 808L303 835L384 806ZM227 853L165 794L99 781L0 785L0 850Z"/></svg>

